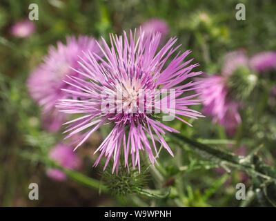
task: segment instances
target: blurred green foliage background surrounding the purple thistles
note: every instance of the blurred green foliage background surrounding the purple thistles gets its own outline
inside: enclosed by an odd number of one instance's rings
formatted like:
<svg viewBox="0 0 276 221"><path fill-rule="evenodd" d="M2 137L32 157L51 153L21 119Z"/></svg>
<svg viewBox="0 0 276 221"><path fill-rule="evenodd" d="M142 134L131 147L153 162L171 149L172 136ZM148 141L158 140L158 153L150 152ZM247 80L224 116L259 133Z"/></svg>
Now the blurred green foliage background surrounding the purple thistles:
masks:
<svg viewBox="0 0 276 221"><path fill-rule="evenodd" d="M26 39L10 35L10 27L28 19L28 6L37 3L39 20L36 30ZM235 6L244 3L246 20L235 19ZM126 198L103 194L68 179L51 180L46 175L48 165L39 160L63 139L61 133L50 134L41 129L39 108L28 95L26 79L57 41L65 42L66 35L108 37L110 32L137 28L148 19L164 19L170 28L167 39L177 36L181 51L192 50L190 57L200 66L197 70L217 73L226 52L244 48L248 55L276 49L276 2L273 0L113 0L79 1L2 0L0 3L0 206L239 206L235 199L235 184L240 174L233 171L222 176L214 165L197 157L188 148L172 147L175 159L161 153L163 182L171 184L170 197L152 199ZM275 82L276 77L268 81ZM266 81L264 81L264 84ZM242 113L243 124L233 140L231 150L246 145L248 150L259 144L265 148L260 155L274 164L276 148L275 106L268 105L268 91L251 99L252 108ZM200 110L200 109L199 109ZM261 110L260 117L255 111ZM193 128L174 121L181 133L212 143L226 140L224 129L211 124L209 118L193 122ZM104 131L93 135L77 154L83 160L81 173L101 179L101 168L92 168L95 148ZM213 143L212 143L213 144ZM214 144L228 149L226 144ZM180 169L176 171L176 169ZM161 170L161 169L160 169ZM230 178L229 178L230 177ZM225 182L226 179L231 179ZM28 199L28 185L39 184L39 200ZM250 180L248 181L250 184ZM248 185L249 185L248 184ZM149 186L154 186L149 181ZM254 206L255 202L250 202Z"/></svg>

